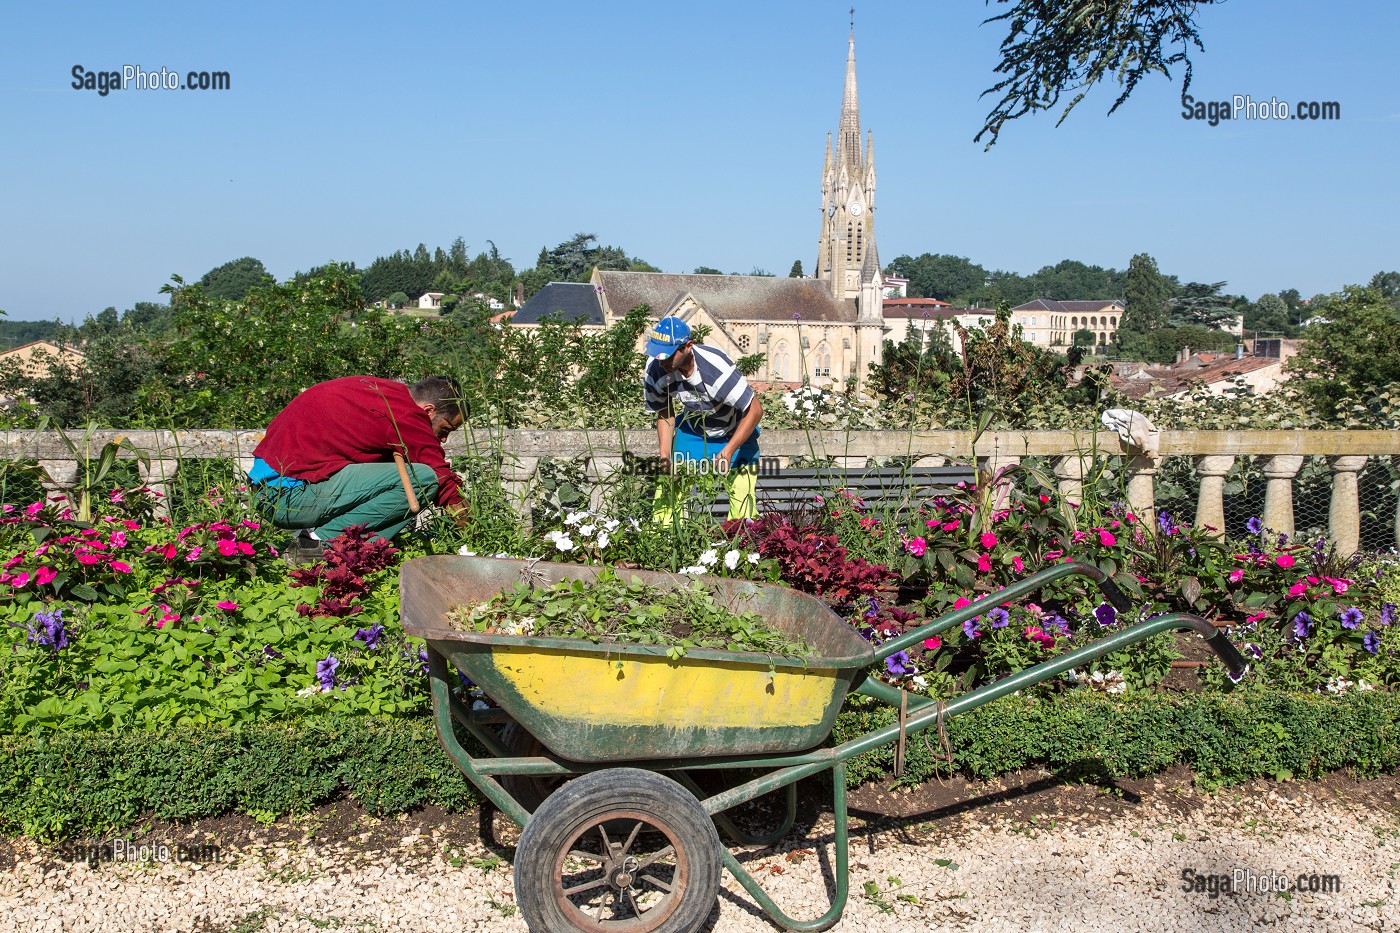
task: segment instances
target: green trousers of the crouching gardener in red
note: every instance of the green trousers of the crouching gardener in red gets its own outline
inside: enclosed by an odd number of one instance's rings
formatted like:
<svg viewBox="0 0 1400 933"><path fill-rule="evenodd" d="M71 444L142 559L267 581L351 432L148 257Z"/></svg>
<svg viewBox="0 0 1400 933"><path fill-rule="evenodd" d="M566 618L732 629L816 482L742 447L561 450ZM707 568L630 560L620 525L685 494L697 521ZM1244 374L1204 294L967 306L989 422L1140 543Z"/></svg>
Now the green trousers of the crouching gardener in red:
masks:
<svg viewBox="0 0 1400 933"><path fill-rule="evenodd" d="M437 497L437 474L410 464L419 502ZM279 528L311 528L330 541L350 525L364 525L371 537L392 538L413 520L395 464L350 464L319 483L253 486L253 504Z"/></svg>

